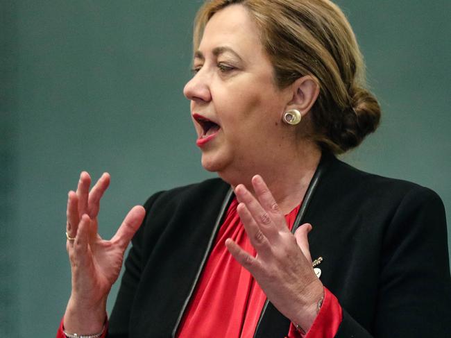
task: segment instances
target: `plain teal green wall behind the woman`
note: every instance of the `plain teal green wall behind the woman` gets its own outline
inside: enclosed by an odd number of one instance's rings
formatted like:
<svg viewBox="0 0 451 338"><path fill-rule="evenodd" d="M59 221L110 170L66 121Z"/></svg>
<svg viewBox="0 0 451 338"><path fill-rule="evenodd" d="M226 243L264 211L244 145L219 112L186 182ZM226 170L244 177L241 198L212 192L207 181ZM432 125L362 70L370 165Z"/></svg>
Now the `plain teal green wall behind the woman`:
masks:
<svg viewBox="0 0 451 338"><path fill-rule="evenodd" d="M383 109L377 133L344 160L434 189L449 215L451 1L338 3ZM153 192L214 176L182 95L200 4L1 2L0 337L55 335L70 292L67 192L80 171L112 175L104 237Z"/></svg>

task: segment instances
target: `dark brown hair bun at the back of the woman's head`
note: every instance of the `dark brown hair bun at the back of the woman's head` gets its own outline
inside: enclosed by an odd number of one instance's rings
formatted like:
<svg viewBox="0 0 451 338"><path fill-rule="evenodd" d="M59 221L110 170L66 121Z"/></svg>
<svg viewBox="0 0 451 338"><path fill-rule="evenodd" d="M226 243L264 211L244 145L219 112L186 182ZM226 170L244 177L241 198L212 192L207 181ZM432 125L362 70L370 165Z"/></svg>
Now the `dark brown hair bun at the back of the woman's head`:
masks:
<svg viewBox="0 0 451 338"><path fill-rule="evenodd" d="M357 87L352 88L350 94L350 107L343 111L341 123L336 125L333 133L340 153L361 144L366 135L376 130L380 122L380 105L371 92Z"/></svg>

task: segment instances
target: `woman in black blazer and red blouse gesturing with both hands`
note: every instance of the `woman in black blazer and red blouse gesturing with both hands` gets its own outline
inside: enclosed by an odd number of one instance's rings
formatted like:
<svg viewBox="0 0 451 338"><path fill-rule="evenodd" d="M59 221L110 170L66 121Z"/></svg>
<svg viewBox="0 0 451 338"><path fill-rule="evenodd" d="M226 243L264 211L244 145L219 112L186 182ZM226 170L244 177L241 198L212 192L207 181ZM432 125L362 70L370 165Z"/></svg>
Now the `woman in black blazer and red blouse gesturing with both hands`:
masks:
<svg viewBox="0 0 451 338"><path fill-rule="evenodd" d="M110 178L89 192L82 173L67 203L72 292L59 337L449 336L439 197L334 157L380 119L339 8L208 1L194 72L184 92L196 144L220 178L153 195L105 241L96 217Z"/></svg>

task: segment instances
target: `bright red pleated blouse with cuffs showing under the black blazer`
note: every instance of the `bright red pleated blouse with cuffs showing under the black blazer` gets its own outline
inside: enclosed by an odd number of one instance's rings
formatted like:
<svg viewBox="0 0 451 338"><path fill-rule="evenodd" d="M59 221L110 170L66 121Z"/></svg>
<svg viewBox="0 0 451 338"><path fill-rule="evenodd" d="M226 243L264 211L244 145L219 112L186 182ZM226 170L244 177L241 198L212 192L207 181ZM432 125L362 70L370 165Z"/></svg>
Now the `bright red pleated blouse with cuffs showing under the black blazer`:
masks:
<svg viewBox="0 0 451 338"><path fill-rule="evenodd" d="M180 323L178 338L252 338L254 335L266 295L253 276L230 255L225 245L226 239L232 238L248 253L256 254L239 219L237 205L235 198L228 208L212 253ZM299 208L300 205L285 215L290 230ZM304 337L334 337L341 318L342 311L337 298L325 289L321 310ZM65 338L62 321L56 337ZM303 336L291 324L287 338L298 337Z"/></svg>

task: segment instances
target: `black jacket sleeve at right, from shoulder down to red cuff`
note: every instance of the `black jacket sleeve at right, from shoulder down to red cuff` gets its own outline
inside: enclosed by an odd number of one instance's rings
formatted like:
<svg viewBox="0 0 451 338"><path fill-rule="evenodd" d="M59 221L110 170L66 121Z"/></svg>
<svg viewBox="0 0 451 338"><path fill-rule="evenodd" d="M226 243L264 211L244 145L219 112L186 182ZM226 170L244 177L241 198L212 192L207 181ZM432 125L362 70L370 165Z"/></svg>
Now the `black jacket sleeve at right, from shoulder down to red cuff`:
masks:
<svg viewBox="0 0 451 338"><path fill-rule="evenodd" d="M377 208L377 205L375 205ZM451 337L451 278L445 210L414 187L386 227L371 334L343 309L335 337Z"/></svg>

